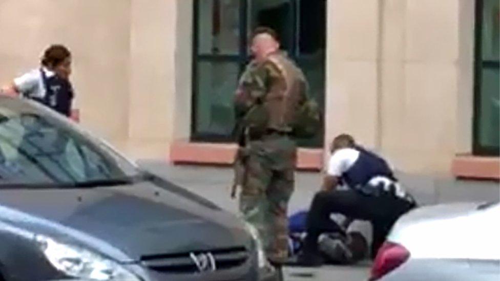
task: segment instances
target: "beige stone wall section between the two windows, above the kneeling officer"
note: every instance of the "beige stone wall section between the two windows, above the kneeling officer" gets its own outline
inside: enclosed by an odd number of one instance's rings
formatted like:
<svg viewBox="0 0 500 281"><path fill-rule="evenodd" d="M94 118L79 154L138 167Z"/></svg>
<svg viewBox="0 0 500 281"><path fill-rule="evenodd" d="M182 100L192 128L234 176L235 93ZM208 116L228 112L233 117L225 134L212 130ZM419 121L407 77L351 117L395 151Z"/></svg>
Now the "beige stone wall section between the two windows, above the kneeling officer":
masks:
<svg viewBox="0 0 500 281"><path fill-rule="evenodd" d="M473 2L330 0L326 140L349 132L407 172L470 152Z"/></svg>

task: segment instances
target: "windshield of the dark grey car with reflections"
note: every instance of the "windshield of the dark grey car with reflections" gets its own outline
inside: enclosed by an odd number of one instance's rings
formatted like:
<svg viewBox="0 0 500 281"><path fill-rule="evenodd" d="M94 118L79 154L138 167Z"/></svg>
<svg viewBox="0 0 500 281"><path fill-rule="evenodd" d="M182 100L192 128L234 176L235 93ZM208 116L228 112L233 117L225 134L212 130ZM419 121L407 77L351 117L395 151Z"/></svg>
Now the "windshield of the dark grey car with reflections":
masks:
<svg viewBox="0 0 500 281"><path fill-rule="evenodd" d="M0 187L106 186L140 175L64 117L34 102L0 98Z"/></svg>

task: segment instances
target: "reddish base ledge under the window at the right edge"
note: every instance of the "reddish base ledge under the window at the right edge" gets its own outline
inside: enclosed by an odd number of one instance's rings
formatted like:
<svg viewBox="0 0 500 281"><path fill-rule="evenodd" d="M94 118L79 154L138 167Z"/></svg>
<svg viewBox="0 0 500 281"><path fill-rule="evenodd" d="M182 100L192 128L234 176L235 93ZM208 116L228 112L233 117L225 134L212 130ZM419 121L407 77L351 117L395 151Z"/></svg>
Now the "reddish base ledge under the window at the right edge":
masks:
<svg viewBox="0 0 500 281"><path fill-rule="evenodd" d="M500 180L500 158L457 155L451 172L458 178Z"/></svg>

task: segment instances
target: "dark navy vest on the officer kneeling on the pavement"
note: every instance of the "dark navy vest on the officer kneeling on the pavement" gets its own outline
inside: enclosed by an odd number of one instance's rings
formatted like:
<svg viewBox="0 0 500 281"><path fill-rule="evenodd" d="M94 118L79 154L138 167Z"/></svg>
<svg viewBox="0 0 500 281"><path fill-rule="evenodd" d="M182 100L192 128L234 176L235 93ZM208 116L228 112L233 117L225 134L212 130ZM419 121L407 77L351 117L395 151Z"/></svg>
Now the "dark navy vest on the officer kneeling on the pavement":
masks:
<svg viewBox="0 0 500 281"><path fill-rule="evenodd" d="M342 174L342 180L350 187L365 186L373 177L384 176L396 180L392 170L384 159L362 147L355 147L360 152L356 162Z"/></svg>

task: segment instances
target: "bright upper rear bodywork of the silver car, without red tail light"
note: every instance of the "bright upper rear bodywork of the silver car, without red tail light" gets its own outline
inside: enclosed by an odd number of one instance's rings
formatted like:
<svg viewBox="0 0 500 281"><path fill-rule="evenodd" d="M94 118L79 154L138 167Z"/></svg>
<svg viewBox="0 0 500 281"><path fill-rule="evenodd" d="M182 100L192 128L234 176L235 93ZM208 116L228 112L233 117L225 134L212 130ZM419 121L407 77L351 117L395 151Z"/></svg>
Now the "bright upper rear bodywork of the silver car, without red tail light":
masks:
<svg viewBox="0 0 500 281"><path fill-rule="evenodd" d="M498 204L443 204L414 209L398 220L388 236L412 257L500 258Z"/></svg>

